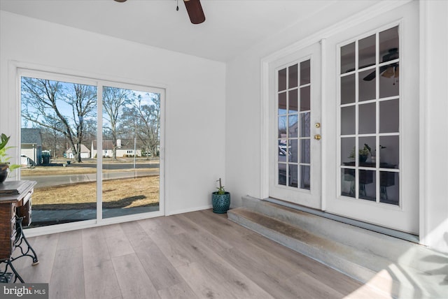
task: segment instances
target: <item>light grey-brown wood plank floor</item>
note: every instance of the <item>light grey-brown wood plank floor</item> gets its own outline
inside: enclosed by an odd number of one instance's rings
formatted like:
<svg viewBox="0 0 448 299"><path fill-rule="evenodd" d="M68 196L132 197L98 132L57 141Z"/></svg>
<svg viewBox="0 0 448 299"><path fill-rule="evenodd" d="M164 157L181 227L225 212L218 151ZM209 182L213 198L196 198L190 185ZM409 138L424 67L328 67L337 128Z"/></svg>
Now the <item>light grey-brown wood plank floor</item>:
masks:
<svg viewBox="0 0 448 299"><path fill-rule="evenodd" d="M16 268L56 299L388 298L211 210L29 241Z"/></svg>

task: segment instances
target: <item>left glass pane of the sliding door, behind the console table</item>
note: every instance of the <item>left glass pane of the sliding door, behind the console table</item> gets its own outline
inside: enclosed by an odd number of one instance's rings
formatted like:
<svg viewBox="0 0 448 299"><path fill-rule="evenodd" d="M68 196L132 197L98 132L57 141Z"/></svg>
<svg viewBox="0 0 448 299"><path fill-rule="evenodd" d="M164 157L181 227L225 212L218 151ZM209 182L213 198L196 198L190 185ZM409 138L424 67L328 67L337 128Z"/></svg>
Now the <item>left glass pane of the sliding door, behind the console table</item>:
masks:
<svg viewBox="0 0 448 299"><path fill-rule="evenodd" d="M97 87L22 77L21 96L21 175L37 182L31 227L96 219Z"/></svg>

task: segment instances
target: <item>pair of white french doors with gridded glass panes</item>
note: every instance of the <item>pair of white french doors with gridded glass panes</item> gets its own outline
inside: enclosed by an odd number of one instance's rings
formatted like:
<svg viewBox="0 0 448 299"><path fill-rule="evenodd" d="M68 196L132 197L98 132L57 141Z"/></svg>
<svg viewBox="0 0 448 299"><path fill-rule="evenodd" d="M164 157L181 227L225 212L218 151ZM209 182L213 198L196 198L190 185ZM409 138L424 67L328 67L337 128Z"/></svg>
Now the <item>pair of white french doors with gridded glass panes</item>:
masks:
<svg viewBox="0 0 448 299"><path fill-rule="evenodd" d="M419 233L418 13L269 62L270 197Z"/></svg>

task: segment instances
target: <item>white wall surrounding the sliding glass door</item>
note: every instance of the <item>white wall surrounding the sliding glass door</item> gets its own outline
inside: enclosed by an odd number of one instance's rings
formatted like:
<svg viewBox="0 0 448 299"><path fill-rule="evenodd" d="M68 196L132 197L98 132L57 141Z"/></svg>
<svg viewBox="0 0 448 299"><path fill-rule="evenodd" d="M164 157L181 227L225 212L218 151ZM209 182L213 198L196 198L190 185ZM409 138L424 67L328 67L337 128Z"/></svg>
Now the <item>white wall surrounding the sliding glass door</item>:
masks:
<svg viewBox="0 0 448 299"><path fill-rule="evenodd" d="M10 62L166 88L167 214L211 207L224 177L225 64L0 11L0 131L18 144ZM211 138L207 138L211 137Z"/></svg>

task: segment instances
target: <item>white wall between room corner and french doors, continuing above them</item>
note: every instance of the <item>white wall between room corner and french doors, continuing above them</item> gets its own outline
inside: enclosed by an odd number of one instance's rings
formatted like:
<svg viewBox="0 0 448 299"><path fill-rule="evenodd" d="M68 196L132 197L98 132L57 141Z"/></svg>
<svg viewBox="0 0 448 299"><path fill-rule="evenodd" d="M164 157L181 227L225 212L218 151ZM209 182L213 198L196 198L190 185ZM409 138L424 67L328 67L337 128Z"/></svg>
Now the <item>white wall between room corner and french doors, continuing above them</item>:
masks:
<svg viewBox="0 0 448 299"><path fill-rule="evenodd" d="M330 6L307 20L288 27L277 36L254 45L227 66L225 173L232 191L232 206L241 196L262 197L262 93L261 60L295 43L306 42L311 34L328 29L378 1L346 1Z"/></svg>

